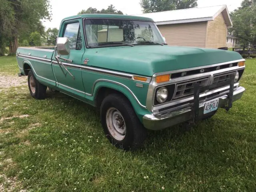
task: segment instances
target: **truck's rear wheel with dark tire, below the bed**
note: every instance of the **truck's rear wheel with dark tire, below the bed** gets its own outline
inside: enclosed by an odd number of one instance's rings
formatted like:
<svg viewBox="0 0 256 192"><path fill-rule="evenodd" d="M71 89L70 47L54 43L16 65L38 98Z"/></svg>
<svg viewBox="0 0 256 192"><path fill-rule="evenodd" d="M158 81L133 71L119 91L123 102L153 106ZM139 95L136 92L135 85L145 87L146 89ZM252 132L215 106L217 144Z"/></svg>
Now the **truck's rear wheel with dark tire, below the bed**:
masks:
<svg viewBox="0 0 256 192"><path fill-rule="evenodd" d="M28 72L28 88L31 96L35 99L45 99L47 87L36 80L32 70Z"/></svg>

